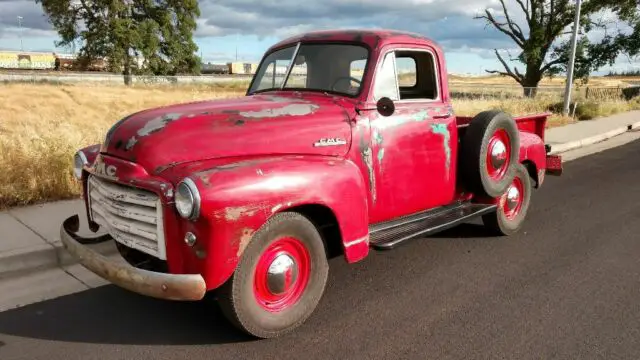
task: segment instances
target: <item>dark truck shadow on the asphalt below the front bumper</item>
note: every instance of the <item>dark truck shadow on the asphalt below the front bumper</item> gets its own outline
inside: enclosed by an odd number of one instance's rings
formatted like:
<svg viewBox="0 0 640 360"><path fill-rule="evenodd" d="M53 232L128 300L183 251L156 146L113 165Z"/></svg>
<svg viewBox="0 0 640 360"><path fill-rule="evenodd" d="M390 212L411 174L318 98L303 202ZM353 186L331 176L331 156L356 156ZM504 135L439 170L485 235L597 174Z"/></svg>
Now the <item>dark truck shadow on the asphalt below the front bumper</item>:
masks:
<svg viewBox="0 0 640 360"><path fill-rule="evenodd" d="M0 313L0 333L102 344L183 345L251 340L217 305L167 302L106 285Z"/></svg>

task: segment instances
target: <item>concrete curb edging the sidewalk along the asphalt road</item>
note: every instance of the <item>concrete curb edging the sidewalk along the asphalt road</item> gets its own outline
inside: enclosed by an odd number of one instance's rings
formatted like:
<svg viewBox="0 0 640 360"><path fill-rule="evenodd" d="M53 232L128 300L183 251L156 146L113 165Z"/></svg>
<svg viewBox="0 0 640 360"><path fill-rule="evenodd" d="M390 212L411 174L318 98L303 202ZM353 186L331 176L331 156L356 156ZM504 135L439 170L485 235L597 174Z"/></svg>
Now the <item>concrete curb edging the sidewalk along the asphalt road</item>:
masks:
<svg viewBox="0 0 640 360"><path fill-rule="evenodd" d="M581 140L554 144L551 145L550 154L562 154L571 150L603 142L629 131L638 129L640 129L640 122L621 126L605 133L590 136ZM101 244L90 245L90 247L104 256L114 255L118 252L115 247L114 240ZM61 242L58 241L54 244L43 243L41 246L33 246L0 253L0 279L17 277L53 268L64 269L65 267L75 265L77 263L78 261L64 249Z"/></svg>

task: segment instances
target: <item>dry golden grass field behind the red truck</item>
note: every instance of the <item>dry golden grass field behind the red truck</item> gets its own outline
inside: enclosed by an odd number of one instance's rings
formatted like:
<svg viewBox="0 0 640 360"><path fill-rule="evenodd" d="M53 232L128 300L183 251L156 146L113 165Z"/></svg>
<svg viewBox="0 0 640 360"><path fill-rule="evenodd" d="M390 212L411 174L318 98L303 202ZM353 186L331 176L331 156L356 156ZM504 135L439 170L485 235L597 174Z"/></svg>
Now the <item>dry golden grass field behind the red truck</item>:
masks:
<svg viewBox="0 0 640 360"><path fill-rule="evenodd" d="M504 80L503 80L504 81ZM454 82L452 82L453 85ZM453 86L455 89L456 87ZM101 142L107 129L132 112L178 102L242 96L244 86L122 86L5 84L0 86L0 208L77 197L71 159L80 147ZM514 89L515 94L521 90ZM495 95L495 94L493 94ZM498 108L514 115L557 107L557 95L456 99L459 115ZM517 95L514 95L517 96ZM606 101L581 105L583 118L637 108L638 103ZM586 115L584 115L584 114ZM554 115L549 125L574 121Z"/></svg>

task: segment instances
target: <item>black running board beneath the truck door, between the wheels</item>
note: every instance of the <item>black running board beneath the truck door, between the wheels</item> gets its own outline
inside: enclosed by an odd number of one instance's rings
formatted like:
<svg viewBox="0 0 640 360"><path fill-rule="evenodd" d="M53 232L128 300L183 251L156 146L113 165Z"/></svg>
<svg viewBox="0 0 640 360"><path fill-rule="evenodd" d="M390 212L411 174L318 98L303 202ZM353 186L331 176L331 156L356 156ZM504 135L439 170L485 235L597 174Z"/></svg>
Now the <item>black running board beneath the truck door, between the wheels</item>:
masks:
<svg viewBox="0 0 640 360"><path fill-rule="evenodd" d="M496 210L496 205L459 203L373 225L369 243L376 250L391 250L401 243L452 228Z"/></svg>

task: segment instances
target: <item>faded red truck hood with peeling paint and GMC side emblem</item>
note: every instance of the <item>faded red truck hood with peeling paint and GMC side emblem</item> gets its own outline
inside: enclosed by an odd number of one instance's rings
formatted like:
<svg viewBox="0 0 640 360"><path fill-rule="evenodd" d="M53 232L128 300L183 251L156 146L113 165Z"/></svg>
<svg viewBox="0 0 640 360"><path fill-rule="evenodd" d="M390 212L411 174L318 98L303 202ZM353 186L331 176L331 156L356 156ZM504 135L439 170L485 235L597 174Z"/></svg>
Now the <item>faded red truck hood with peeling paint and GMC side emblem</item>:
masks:
<svg viewBox="0 0 640 360"><path fill-rule="evenodd" d="M343 156L353 106L323 94L253 95L132 114L107 133L101 152L156 174L190 161L314 154Z"/></svg>

